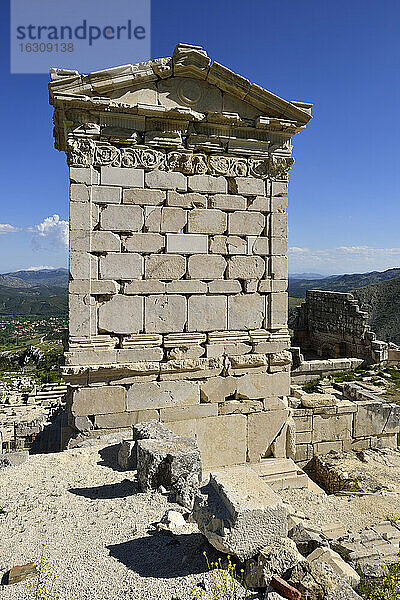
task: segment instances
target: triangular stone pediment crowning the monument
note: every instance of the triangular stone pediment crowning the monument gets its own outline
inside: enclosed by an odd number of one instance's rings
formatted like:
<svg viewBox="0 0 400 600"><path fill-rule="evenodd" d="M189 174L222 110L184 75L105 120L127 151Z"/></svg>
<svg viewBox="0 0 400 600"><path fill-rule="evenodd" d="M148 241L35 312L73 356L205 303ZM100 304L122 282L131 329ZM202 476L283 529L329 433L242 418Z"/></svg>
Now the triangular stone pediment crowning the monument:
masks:
<svg viewBox="0 0 400 600"><path fill-rule="evenodd" d="M163 116L191 115L194 120L234 122L263 117L283 119L304 127L311 104L284 100L251 83L217 62L198 46L178 44L171 58L123 65L81 75L52 69L50 101L81 99L87 104L110 105L126 111Z"/></svg>

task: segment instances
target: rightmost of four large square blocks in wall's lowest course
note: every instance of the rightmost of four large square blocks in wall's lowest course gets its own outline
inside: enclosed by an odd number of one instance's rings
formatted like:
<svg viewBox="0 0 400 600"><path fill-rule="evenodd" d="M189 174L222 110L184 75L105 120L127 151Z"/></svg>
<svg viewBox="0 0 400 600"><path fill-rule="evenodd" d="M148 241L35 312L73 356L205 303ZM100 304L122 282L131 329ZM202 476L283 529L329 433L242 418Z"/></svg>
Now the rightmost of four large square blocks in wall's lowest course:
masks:
<svg viewBox="0 0 400 600"><path fill-rule="evenodd" d="M228 298L228 329L260 329L265 319L265 300L259 294Z"/></svg>

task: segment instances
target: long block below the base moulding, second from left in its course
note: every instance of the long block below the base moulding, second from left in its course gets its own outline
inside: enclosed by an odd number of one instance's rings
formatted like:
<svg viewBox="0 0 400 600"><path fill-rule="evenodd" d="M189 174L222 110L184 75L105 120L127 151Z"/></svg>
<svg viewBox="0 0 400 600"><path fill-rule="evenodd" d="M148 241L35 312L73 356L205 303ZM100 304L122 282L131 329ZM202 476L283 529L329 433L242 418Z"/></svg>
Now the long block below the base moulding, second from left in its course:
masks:
<svg viewBox="0 0 400 600"><path fill-rule="evenodd" d="M200 404L199 384L192 381L134 383L127 392L127 410L172 408Z"/></svg>

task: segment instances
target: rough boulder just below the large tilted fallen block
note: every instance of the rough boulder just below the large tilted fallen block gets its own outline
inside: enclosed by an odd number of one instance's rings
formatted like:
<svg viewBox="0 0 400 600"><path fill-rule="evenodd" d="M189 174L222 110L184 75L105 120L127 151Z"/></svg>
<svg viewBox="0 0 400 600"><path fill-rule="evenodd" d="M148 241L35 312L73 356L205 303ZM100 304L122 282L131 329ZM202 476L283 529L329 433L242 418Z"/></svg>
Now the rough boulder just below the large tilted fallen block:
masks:
<svg viewBox="0 0 400 600"><path fill-rule="evenodd" d="M284 576L302 560L296 544L284 537L265 546L256 558L246 562L246 583L250 588L267 587L274 575Z"/></svg>

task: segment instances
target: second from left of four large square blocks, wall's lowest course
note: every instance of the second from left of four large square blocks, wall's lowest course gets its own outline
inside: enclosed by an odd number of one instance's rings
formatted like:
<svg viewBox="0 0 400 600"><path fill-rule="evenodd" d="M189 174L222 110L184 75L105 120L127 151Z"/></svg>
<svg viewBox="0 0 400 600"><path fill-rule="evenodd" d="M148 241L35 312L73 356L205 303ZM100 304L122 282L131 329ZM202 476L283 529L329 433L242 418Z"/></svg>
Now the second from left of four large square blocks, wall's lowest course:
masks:
<svg viewBox="0 0 400 600"><path fill-rule="evenodd" d="M170 333L183 331L186 325L186 298L173 294L145 298L145 331Z"/></svg>

